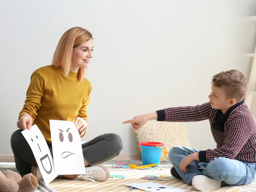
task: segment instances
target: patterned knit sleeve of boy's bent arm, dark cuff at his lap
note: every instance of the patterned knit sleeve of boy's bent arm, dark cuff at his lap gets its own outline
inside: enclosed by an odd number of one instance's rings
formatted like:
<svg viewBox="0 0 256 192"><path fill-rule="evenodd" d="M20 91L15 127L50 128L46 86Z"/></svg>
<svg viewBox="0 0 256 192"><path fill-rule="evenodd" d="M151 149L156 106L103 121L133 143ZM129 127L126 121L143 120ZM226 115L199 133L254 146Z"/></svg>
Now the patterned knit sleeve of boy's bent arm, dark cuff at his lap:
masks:
<svg viewBox="0 0 256 192"><path fill-rule="evenodd" d="M253 132L252 123L244 114L236 114L226 127L228 130L223 145L213 150L200 151L200 162L209 163L215 157L235 159Z"/></svg>

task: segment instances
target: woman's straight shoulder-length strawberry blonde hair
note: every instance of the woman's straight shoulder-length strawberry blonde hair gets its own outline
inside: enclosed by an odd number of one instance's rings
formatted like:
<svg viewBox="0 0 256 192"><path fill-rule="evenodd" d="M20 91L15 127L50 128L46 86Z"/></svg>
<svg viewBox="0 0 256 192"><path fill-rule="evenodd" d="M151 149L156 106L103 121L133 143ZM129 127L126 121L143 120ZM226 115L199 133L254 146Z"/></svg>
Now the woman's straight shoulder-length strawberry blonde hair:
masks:
<svg viewBox="0 0 256 192"><path fill-rule="evenodd" d="M56 50L52 57L52 65L61 67L64 75L68 76L71 67L73 49L81 43L85 43L92 38L92 34L84 28L74 27L68 29L60 38ZM79 68L77 79L82 81L87 68Z"/></svg>

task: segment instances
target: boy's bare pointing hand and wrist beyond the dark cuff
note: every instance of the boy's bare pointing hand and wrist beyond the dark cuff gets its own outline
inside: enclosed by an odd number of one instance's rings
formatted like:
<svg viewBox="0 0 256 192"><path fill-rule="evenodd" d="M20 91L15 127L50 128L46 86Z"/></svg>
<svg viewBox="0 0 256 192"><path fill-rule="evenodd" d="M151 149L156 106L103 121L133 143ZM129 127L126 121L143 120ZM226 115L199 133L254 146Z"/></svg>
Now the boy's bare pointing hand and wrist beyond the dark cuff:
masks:
<svg viewBox="0 0 256 192"><path fill-rule="evenodd" d="M139 115L135 116L133 119L130 119L128 121L124 121L123 124L130 123L134 129L134 131L140 129L143 125L145 125L149 120L156 120L157 119L157 113L148 113L145 115Z"/></svg>

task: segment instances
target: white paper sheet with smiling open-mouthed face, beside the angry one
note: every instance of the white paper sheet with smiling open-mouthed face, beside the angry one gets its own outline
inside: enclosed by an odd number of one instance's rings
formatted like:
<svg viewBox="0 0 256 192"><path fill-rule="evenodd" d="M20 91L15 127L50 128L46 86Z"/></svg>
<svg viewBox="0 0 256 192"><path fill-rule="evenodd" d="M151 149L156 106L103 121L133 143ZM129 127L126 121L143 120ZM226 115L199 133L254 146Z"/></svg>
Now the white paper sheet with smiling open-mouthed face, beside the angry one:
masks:
<svg viewBox="0 0 256 192"><path fill-rule="evenodd" d="M48 185L58 175L56 175L54 172L52 155L42 132L36 125L33 125L29 131L26 129L21 133L32 149L32 152L36 158L36 163L38 164L40 172L43 176L45 185Z"/></svg>

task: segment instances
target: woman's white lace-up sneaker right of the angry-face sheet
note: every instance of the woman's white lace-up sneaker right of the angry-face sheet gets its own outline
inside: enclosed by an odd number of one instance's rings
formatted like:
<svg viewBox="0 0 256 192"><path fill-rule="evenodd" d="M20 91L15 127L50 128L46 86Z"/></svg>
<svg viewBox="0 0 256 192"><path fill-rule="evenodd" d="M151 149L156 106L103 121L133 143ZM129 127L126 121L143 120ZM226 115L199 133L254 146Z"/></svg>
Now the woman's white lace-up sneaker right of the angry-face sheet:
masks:
<svg viewBox="0 0 256 192"><path fill-rule="evenodd" d="M109 178L108 168L102 165L85 167L85 174L77 175L75 180L105 181Z"/></svg>

